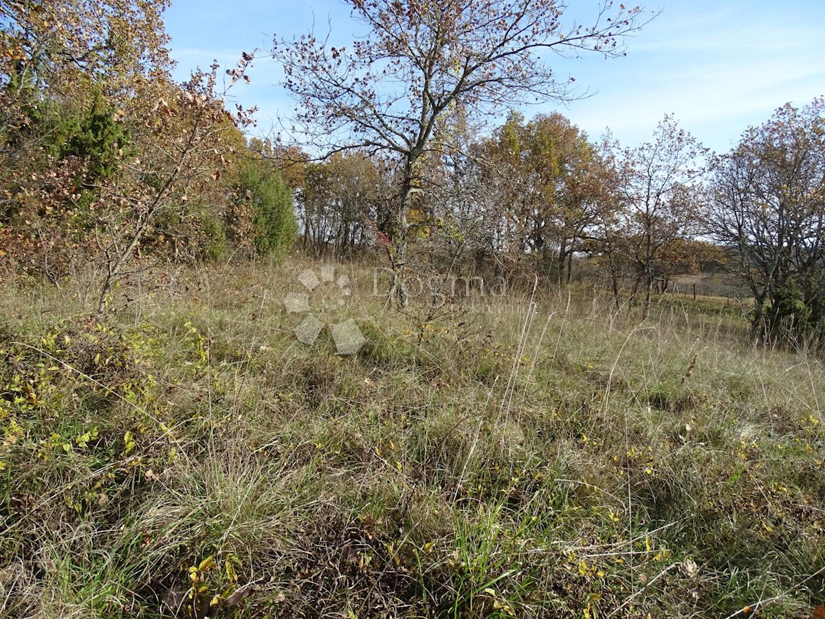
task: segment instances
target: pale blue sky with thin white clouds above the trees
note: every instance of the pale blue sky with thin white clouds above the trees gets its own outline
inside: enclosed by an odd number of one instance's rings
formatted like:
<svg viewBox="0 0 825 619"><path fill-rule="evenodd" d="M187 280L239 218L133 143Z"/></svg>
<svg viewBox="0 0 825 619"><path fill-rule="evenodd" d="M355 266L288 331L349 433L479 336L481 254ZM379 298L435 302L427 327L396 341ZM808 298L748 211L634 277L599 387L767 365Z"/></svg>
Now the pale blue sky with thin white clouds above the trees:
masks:
<svg viewBox="0 0 825 619"><path fill-rule="evenodd" d="M567 16L587 24L596 0L570 0ZM748 126L779 106L804 106L825 95L825 0L665 0L645 5L658 16L627 43L627 56L554 59L559 78L571 76L583 95L567 105L527 106L527 118L558 111L596 140L606 128L620 144L651 139L665 114L709 149L731 149ZM250 84L232 97L257 106L266 135L294 102L278 85L281 71L266 58L273 35L300 35L315 24L330 28L332 44L348 45L358 30L342 0L172 0L166 12L175 75L217 60L233 68L244 51L259 50ZM507 111L502 111L498 124Z"/></svg>

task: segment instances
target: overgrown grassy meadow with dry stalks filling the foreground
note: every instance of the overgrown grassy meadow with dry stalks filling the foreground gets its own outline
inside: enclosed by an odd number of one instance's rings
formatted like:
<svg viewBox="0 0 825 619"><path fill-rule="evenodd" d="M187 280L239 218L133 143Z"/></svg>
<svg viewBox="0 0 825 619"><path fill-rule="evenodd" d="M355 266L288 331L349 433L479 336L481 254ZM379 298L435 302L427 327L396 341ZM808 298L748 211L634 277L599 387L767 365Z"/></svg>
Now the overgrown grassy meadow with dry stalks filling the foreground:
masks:
<svg viewBox="0 0 825 619"><path fill-rule="evenodd" d="M527 286L426 320L352 266L309 299L363 333L337 355L283 303L320 266L169 272L102 319L93 283L0 291L0 616L825 602L822 361L749 346L724 299L640 322Z"/></svg>

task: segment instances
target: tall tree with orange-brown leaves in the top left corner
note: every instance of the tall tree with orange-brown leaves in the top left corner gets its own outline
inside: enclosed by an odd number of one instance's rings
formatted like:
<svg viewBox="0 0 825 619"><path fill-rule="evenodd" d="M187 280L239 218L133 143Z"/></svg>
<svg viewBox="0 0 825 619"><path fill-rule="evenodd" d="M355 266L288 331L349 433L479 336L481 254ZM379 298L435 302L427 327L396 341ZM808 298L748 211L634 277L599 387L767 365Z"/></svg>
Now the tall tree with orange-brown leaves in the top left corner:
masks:
<svg viewBox="0 0 825 619"><path fill-rule="evenodd" d="M165 7L0 4L0 227L26 270L57 281L68 256L91 249L82 211L130 153L125 118L167 83Z"/></svg>

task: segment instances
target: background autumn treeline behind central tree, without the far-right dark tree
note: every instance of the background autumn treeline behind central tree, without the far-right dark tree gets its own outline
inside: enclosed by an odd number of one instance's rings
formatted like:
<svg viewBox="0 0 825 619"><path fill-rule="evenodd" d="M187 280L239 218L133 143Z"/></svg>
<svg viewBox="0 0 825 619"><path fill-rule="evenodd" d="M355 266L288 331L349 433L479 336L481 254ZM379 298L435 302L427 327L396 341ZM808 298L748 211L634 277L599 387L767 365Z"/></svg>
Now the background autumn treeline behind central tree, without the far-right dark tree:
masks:
<svg viewBox="0 0 825 619"><path fill-rule="evenodd" d="M573 258L589 256L618 300L625 284L631 296L648 296L721 258L697 240L705 150L671 117L650 144L630 150L593 144L559 114L512 113L492 135L470 133L453 127L415 171L408 219L429 265L565 284ZM393 241L396 167L363 150L298 165L304 248L342 256Z"/></svg>

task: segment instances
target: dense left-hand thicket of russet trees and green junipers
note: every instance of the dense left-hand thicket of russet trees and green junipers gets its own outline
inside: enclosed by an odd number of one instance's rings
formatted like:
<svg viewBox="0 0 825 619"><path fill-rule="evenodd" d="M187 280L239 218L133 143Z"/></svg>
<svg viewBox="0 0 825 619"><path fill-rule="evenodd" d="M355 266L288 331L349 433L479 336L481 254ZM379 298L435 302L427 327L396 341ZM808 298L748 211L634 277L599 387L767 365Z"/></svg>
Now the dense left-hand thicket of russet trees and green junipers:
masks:
<svg viewBox="0 0 825 619"><path fill-rule="evenodd" d="M252 58L171 76L163 0L0 7L0 277L101 272L99 309L144 253L283 253L291 192L249 111L224 108ZM224 84L225 83L225 84ZM222 85L224 84L224 85Z"/></svg>

